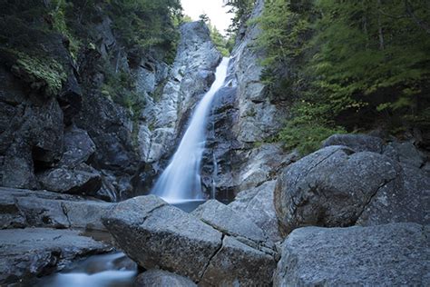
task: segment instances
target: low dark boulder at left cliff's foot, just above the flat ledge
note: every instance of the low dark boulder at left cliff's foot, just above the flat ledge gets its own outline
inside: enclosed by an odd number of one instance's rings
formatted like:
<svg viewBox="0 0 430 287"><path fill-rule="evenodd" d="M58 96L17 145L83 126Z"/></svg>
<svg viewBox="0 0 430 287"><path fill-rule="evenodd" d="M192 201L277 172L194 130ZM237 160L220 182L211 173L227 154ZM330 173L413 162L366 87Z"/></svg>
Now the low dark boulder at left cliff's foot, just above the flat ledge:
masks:
<svg viewBox="0 0 430 287"><path fill-rule="evenodd" d="M85 163L74 169L54 168L37 176L44 189L57 193L93 194L102 186L100 173Z"/></svg>

